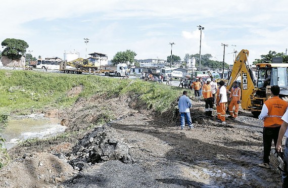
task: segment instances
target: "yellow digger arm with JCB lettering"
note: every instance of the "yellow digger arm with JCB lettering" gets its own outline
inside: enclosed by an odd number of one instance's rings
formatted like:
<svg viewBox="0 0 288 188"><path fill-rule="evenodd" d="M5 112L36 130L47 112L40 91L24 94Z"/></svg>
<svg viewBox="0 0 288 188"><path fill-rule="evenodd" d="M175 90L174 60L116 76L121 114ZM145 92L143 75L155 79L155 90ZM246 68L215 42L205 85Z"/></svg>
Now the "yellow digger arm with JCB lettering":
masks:
<svg viewBox="0 0 288 188"><path fill-rule="evenodd" d="M254 95L255 86L254 78L250 67L246 64L249 56L248 50L242 50L237 56L233 64L233 69L227 83L227 89L230 90L238 76L241 76L242 102L241 107L247 110L251 106L251 98Z"/></svg>

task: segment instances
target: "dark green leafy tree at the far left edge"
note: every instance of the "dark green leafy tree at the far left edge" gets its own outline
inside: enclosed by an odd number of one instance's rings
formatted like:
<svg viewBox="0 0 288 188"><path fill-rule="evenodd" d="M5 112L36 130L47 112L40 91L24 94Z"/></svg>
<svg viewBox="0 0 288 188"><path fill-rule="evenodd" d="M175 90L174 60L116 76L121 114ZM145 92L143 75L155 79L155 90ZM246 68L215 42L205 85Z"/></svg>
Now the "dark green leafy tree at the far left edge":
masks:
<svg viewBox="0 0 288 188"><path fill-rule="evenodd" d="M24 40L15 38L6 38L1 45L6 47L2 55L12 60L19 60L21 56L25 56L26 49L29 47Z"/></svg>

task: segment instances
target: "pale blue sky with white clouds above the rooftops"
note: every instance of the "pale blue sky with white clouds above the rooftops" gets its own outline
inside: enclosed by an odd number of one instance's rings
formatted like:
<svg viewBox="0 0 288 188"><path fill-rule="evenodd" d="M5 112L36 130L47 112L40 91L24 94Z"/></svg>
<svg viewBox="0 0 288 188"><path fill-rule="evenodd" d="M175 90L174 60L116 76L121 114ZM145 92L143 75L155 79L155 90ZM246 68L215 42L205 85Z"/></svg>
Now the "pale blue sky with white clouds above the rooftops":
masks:
<svg viewBox="0 0 288 188"><path fill-rule="evenodd" d="M269 51L286 53L287 17L283 0L10 0L1 2L0 42L25 40L36 58L97 52L108 60L126 50L138 60L167 60L174 42L173 55L184 60L185 54L199 54L201 39L201 55L222 62L221 44L228 44L226 63L233 64L233 52L242 49L252 63Z"/></svg>

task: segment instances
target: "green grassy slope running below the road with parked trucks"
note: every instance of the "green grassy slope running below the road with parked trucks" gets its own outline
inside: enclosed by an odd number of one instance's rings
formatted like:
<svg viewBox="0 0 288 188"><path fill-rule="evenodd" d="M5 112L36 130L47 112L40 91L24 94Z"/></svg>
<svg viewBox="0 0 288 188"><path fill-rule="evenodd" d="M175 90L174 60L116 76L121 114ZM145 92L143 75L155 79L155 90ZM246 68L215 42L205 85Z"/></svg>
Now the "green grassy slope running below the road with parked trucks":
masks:
<svg viewBox="0 0 288 188"><path fill-rule="evenodd" d="M83 85L83 91L68 98L67 91ZM156 112L166 111L182 89L142 80L117 79L95 75L0 70L0 115L30 114L43 108L65 108L79 97L92 95L132 95Z"/></svg>

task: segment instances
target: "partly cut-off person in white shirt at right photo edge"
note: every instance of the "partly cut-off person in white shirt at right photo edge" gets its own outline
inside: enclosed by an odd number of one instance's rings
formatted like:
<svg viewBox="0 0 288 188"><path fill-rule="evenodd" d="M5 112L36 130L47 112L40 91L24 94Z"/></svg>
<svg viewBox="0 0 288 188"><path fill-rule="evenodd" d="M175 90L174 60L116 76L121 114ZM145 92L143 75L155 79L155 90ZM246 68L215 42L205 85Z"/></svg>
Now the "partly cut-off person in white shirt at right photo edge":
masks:
<svg viewBox="0 0 288 188"><path fill-rule="evenodd" d="M288 111L285 112L285 114L281 118L283 120L283 123L281 125L281 128L279 130L278 134L278 140L276 144L276 151L277 152L283 152L282 151L282 138L285 135L285 151L284 151L284 171L282 173L282 187L288 187Z"/></svg>

